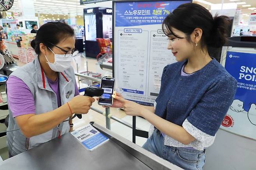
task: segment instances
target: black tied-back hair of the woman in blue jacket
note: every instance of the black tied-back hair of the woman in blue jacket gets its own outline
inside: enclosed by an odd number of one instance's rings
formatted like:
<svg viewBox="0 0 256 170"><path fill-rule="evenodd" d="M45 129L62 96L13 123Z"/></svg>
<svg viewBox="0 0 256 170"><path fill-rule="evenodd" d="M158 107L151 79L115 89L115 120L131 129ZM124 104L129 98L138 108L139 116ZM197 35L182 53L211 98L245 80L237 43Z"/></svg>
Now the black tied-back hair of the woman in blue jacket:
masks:
<svg viewBox="0 0 256 170"><path fill-rule="evenodd" d="M167 36L171 34L177 38L172 28L178 29L187 35L188 42L191 42L190 35L195 28L203 31L201 47L222 47L227 42L231 22L227 16L215 16L196 3L184 3L170 13L163 21L163 31ZM167 32L166 32L167 28Z"/></svg>

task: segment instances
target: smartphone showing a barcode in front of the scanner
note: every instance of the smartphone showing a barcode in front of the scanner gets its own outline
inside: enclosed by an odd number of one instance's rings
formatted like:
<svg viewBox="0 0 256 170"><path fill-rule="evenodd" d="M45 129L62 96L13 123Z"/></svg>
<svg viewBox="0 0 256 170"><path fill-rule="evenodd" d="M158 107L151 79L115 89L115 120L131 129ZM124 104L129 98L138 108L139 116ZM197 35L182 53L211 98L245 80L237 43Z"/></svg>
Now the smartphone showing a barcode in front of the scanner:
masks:
<svg viewBox="0 0 256 170"><path fill-rule="evenodd" d="M100 87L103 88L104 93L99 97L98 104L103 106L111 106L113 103L112 94L114 93L115 79L103 77L101 79Z"/></svg>

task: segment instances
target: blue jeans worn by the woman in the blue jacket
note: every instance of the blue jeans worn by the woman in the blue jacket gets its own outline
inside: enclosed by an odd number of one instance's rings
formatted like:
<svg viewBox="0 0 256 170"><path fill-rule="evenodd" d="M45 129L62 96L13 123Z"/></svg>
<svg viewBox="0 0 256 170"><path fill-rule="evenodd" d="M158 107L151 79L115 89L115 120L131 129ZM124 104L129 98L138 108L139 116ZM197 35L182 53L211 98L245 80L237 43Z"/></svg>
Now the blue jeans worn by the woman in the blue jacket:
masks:
<svg viewBox="0 0 256 170"><path fill-rule="evenodd" d="M154 130L142 147L185 170L202 170L205 164L205 150L165 146L164 137L158 129Z"/></svg>

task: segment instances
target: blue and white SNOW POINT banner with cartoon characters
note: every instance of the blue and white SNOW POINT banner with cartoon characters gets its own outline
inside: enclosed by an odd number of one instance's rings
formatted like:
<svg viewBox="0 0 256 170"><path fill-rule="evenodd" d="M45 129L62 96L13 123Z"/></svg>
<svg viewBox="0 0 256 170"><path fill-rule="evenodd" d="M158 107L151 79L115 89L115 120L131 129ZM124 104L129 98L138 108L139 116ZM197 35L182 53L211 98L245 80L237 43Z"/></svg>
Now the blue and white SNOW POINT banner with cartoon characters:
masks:
<svg viewBox="0 0 256 170"><path fill-rule="evenodd" d="M237 92L221 128L256 139L256 53L226 54L225 68L237 79Z"/></svg>

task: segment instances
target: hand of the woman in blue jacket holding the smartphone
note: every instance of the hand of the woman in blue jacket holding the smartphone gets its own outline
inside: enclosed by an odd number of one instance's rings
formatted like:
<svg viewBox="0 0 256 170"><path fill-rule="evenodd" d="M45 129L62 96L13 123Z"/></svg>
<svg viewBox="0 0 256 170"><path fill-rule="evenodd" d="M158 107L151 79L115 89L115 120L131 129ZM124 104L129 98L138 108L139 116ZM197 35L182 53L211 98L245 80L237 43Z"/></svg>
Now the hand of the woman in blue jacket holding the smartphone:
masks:
<svg viewBox="0 0 256 170"><path fill-rule="evenodd" d="M142 113L144 111L144 107L142 107L140 104L137 104L132 101L128 101L124 99L123 97L112 95L114 99L116 99L119 102L123 103L124 112L127 115L130 116L142 116Z"/></svg>

